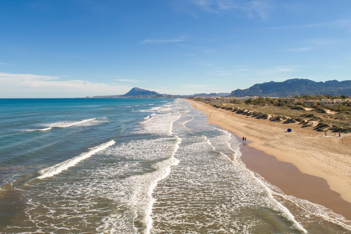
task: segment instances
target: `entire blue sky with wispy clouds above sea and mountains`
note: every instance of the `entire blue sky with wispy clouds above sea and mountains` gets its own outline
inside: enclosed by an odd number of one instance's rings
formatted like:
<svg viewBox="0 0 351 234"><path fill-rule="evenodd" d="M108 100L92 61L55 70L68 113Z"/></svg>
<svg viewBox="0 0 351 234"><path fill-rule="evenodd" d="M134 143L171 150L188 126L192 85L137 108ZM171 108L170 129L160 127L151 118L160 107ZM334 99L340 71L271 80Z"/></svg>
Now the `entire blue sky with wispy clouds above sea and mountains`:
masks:
<svg viewBox="0 0 351 234"><path fill-rule="evenodd" d="M0 0L0 98L351 80L350 0Z"/></svg>

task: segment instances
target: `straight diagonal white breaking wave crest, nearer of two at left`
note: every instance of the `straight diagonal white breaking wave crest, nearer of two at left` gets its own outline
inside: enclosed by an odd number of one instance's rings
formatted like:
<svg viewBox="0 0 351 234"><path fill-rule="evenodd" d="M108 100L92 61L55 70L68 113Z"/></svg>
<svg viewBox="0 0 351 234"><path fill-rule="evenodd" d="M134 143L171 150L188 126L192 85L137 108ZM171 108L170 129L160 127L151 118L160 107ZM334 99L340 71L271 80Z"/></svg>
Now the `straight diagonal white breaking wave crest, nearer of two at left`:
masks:
<svg viewBox="0 0 351 234"><path fill-rule="evenodd" d="M68 167L74 166L75 164L79 163L81 160L89 158L90 156L94 155L95 153L101 150L106 149L108 146L111 146L114 143L116 143L114 140L110 140L109 142L106 142L104 144L91 148L90 151L86 153L82 153L77 157L68 159L66 161L63 161L62 163L43 169L39 171L41 175L39 175L37 178L44 179L44 178L52 177L53 175L59 174L61 171L66 170Z"/></svg>

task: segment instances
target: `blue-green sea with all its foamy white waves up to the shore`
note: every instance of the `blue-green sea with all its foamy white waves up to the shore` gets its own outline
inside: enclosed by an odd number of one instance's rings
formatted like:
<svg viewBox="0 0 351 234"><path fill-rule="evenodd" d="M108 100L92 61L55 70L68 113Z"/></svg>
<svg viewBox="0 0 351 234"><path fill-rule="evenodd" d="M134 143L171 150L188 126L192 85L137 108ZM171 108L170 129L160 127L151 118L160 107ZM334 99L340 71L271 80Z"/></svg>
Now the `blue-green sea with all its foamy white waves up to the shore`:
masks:
<svg viewBox="0 0 351 234"><path fill-rule="evenodd" d="M0 99L0 233L351 233L206 120L184 99Z"/></svg>

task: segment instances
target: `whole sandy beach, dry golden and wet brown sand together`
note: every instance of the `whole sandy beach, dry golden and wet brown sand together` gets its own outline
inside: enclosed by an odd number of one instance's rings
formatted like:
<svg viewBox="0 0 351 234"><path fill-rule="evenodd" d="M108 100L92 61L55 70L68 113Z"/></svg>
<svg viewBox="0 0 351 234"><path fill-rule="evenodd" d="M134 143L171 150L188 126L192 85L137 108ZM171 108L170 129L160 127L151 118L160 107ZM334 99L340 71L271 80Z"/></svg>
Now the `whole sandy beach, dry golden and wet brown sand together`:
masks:
<svg viewBox="0 0 351 234"><path fill-rule="evenodd" d="M340 145L337 137L288 133L203 102L188 101L207 115L208 123L250 140L247 147L242 147L241 157L248 168L287 195L323 205L351 219L351 147Z"/></svg>

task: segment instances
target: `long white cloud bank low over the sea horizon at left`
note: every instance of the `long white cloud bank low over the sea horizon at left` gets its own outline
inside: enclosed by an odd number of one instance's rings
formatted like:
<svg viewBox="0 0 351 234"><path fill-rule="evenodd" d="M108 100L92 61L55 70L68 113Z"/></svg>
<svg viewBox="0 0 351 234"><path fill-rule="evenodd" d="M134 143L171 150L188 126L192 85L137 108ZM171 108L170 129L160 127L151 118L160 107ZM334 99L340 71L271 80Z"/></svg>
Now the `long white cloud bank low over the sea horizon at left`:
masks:
<svg viewBox="0 0 351 234"><path fill-rule="evenodd" d="M124 94L132 87L59 76L0 73L0 97L81 97Z"/></svg>

